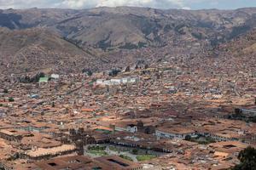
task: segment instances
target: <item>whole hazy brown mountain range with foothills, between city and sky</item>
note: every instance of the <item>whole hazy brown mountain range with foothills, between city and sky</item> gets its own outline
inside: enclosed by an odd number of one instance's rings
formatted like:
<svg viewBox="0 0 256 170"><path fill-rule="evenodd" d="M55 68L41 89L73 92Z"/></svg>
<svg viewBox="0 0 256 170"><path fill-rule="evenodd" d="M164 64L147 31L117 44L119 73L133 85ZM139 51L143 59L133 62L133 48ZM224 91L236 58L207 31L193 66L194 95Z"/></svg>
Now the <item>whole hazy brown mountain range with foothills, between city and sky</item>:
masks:
<svg viewBox="0 0 256 170"><path fill-rule="evenodd" d="M224 57L227 43L233 43L230 54L241 45L254 54L255 39L243 43L241 37L254 35L256 8L7 9L0 11L0 26L3 74L102 71L141 59L154 64L179 57Z"/></svg>

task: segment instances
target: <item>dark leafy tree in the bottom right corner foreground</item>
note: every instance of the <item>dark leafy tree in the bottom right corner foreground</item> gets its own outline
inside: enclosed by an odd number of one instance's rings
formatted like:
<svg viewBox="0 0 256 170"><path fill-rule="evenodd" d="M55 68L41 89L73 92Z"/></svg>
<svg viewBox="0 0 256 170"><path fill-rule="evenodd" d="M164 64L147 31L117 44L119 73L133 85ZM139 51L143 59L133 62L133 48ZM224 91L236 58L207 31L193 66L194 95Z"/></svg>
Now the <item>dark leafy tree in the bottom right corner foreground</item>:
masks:
<svg viewBox="0 0 256 170"><path fill-rule="evenodd" d="M233 167L233 170L254 170L256 169L256 149L248 146L245 150L241 150L238 159L240 164Z"/></svg>

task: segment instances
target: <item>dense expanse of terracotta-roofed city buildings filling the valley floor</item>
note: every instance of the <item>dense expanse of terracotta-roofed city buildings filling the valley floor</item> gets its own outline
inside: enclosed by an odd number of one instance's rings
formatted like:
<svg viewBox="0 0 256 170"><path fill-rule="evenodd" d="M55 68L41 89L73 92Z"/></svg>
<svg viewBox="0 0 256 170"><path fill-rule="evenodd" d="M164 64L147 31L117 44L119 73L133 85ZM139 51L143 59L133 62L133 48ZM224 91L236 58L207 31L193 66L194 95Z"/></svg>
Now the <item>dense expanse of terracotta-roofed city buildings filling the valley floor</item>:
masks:
<svg viewBox="0 0 256 170"><path fill-rule="evenodd" d="M256 144L255 122L232 116L255 116L256 77L240 76L233 82L166 61L117 77L52 74L37 83L3 83L0 167L228 169L240 150ZM90 144L131 150L132 160L154 158L132 162L126 152L106 150L88 156Z"/></svg>

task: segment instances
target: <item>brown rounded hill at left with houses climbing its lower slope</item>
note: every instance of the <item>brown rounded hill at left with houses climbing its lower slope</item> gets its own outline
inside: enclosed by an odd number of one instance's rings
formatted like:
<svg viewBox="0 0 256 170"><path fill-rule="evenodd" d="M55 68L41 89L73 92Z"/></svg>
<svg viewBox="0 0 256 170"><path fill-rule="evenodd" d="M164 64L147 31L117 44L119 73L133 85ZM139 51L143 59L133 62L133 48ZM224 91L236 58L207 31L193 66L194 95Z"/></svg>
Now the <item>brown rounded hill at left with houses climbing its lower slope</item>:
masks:
<svg viewBox="0 0 256 170"><path fill-rule="evenodd" d="M95 59L53 31L44 29L10 31L2 28L0 39L3 73L77 71Z"/></svg>

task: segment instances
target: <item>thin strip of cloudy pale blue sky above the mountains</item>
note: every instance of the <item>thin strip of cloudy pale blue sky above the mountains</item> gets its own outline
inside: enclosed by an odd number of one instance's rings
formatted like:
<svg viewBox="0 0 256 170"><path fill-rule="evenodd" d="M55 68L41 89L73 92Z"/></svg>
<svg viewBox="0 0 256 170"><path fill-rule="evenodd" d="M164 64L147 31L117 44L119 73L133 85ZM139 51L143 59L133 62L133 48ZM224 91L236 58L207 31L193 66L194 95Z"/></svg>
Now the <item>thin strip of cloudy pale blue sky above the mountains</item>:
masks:
<svg viewBox="0 0 256 170"><path fill-rule="evenodd" d="M234 9L256 7L256 0L0 0L0 8L96 8L135 6L150 8Z"/></svg>

